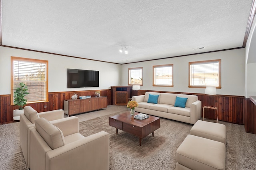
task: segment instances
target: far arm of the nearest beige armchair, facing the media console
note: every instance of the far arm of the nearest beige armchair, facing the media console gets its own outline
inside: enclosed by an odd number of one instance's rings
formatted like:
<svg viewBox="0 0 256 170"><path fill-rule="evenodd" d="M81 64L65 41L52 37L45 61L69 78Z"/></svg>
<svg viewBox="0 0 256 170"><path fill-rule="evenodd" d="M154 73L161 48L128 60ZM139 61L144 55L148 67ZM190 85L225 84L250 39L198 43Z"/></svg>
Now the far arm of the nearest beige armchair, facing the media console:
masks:
<svg viewBox="0 0 256 170"><path fill-rule="evenodd" d="M50 123L58 127L62 131L64 137L79 133L79 119L76 116L53 120L50 121Z"/></svg>

